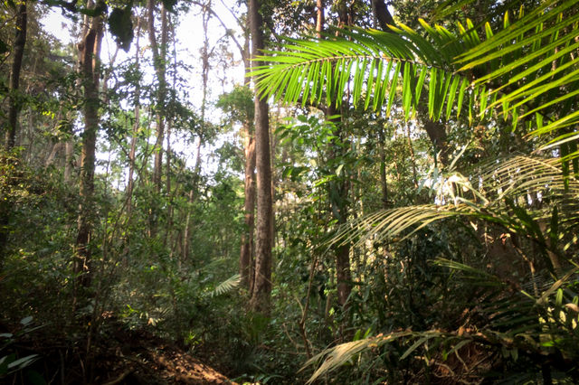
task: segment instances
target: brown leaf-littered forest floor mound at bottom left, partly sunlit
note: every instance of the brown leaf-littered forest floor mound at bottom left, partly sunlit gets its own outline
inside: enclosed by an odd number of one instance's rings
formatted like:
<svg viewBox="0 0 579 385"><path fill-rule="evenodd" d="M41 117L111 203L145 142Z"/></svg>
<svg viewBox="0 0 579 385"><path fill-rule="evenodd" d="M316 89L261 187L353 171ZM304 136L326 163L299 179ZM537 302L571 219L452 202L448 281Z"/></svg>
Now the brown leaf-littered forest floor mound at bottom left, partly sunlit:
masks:
<svg viewBox="0 0 579 385"><path fill-rule="evenodd" d="M21 341L12 348L18 356L38 354L38 359L23 371L0 383L54 384L235 384L219 371L195 359L175 343L146 330L119 328L108 333L86 353L86 343L59 341L59 338L35 333L35 338ZM69 336L70 337L70 336ZM60 339L62 340L62 339ZM84 346L83 346L84 345ZM73 347L71 347L73 346ZM5 352L0 354L3 356ZM45 382L31 377L40 374Z"/></svg>

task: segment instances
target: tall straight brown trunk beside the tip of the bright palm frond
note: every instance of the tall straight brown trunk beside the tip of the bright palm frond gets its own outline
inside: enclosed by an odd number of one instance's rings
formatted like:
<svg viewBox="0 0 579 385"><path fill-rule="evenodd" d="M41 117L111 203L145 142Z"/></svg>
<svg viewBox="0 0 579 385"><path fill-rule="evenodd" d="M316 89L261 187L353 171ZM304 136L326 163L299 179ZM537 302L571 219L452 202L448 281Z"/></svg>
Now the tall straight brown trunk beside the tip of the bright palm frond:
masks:
<svg viewBox="0 0 579 385"><path fill-rule="evenodd" d="M263 50L263 23L259 0L249 2L252 57ZM256 66L260 61L254 62ZM252 311L269 315L271 303L271 156L270 117L265 99L255 95L255 154L257 166L257 229L255 239L255 277L250 307Z"/></svg>

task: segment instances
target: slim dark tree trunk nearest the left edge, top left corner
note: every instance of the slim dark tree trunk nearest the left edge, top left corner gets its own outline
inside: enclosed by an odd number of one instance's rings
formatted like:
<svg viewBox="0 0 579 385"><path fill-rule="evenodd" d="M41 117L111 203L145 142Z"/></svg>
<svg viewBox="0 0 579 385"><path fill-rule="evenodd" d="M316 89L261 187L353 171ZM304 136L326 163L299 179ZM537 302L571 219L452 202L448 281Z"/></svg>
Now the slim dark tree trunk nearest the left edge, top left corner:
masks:
<svg viewBox="0 0 579 385"><path fill-rule="evenodd" d="M14 147L16 142L16 127L18 126L18 113L21 103L18 97L20 88L20 70L22 69L22 59L24 56L24 45L26 44L26 24L27 24L26 2L18 5L16 14L16 33L14 39L14 60L10 69L10 84L8 93L8 131L6 132L6 148Z"/></svg>

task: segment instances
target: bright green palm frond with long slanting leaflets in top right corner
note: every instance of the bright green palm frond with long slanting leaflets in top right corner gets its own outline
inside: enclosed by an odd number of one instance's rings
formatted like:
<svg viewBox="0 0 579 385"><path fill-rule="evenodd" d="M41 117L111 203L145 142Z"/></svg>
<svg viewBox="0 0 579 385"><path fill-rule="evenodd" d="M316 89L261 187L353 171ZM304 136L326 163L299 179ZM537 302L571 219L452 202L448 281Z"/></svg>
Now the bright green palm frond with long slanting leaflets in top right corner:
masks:
<svg viewBox="0 0 579 385"><path fill-rule="evenodd" d="M491 89L494 101L487 108L502 106L505 117L518 121L539 114L532 135L545 135L579 123L573 111L579 101L578 36L577 1L551 0L515 23L506 18L505 29L457 56L455 63L460 71L493 68L473 82ZM557 136L550 145L564 139Z"/></svg>

